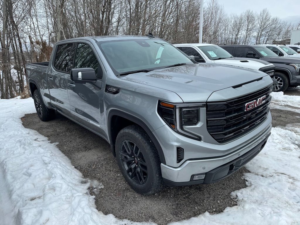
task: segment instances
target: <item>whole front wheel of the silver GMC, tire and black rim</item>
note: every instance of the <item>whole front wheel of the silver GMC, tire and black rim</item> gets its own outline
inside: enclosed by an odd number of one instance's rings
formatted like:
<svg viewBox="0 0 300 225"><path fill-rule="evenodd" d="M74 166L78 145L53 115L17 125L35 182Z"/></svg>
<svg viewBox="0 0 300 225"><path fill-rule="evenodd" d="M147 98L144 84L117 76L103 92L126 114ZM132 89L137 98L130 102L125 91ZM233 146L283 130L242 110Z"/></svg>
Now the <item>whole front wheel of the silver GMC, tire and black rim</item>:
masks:
<svg viewBox="0 0 300 225"><path fill-rule="evenodd" d="M138 125L123 128L116 139L116 158L126 182L136 192L152 195L162 187L156 147Z"/></svg>

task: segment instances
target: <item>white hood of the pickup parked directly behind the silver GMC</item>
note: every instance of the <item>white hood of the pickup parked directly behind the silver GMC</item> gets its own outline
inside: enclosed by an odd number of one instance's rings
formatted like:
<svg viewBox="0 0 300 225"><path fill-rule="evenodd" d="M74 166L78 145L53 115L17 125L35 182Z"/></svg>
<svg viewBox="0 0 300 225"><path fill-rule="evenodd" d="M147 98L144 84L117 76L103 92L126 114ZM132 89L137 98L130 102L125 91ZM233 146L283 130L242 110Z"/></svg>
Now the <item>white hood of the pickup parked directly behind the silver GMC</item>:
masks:
<svg viewBox="0 0 300 225"><path fill-rule="evenodd" d="M214 63L216 64L225 64L225 65L232 65L232 66L238 66L238 67L245 67L245 68L250 68L254 70L259 70L263 67L268 67L273 64L262 61L259 59L245 59L245 58L238 58L238 57L233 57L233 58L224 58L224 59L219 59L219 60L214 60Z"/></svg>

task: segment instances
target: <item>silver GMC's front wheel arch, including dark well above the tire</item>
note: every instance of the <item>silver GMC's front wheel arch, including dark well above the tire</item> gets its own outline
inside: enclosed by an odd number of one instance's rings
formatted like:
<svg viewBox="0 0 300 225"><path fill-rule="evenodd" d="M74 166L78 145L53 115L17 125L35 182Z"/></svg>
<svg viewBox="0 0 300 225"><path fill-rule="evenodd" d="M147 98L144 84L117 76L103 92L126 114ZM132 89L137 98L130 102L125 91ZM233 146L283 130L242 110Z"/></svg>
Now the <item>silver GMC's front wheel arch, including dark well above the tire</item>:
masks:
<svg viewBox="0 0 300 225"><path fill-rule="evenodd" d="M120 110L111 110L108 114L108 138L110 141L110 148L114 156L116 156L116 138L123 128L137 124L148 134L150 139L153 141L160 158L161 163L166 163L164 152L159 144L157 138L152 133L151 129L143 122L141 119L132 116L128 113L122 112Z"/></svg>

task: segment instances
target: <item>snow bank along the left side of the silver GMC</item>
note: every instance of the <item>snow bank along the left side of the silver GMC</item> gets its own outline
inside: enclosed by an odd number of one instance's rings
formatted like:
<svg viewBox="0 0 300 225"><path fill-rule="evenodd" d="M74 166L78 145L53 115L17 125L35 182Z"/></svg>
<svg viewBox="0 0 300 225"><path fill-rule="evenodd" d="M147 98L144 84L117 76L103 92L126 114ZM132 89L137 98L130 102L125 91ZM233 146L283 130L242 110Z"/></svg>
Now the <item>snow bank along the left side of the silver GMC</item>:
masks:
<svg viewBox="0 0 300 225"><path fill-rule="evenodd" d="M0 101L0 224L128 224L95 208L90 182L46 137L22 126L33 100Z"/></svg>

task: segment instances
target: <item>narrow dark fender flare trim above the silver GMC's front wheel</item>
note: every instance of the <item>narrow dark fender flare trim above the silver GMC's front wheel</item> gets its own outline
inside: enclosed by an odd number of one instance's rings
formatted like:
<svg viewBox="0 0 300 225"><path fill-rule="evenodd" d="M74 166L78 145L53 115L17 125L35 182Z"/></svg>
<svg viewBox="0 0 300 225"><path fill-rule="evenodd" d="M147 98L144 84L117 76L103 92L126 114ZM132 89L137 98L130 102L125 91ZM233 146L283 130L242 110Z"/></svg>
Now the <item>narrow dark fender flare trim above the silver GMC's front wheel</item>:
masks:
<svg viewBox="0 0 300 225"><path fill-rule="evenodd" d="M123 117L125 119L128 119L134 123L136 123L137 125L139 125L140 127L142 127L144 129L144 131L146 131L146 133L148 134L148 136L151 138L151 140L153 141L157 151L158 151L158 155L160 158L161 163L166 164L166 160L165 160L165 156L164 156L164 152L163 149L161 148L161 145L159 144L157 138L155 137L155 135L152 133L152 131L150 130L150 128L146 125L145 122L143 122L141 119L132 116L128 113L125 113L123 111L120 110L110 110L109 114L108 114L108 120L107 120L107 128L108 128L108 138L110 141L110 147L111 147L111 151L113 153L114 156L116 156L116 152L115 152L115 145L113 144L113 139L112 139L112 127L111 127L111 119L113 116L120 116Z"/></svg>

